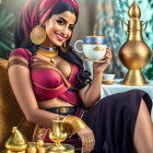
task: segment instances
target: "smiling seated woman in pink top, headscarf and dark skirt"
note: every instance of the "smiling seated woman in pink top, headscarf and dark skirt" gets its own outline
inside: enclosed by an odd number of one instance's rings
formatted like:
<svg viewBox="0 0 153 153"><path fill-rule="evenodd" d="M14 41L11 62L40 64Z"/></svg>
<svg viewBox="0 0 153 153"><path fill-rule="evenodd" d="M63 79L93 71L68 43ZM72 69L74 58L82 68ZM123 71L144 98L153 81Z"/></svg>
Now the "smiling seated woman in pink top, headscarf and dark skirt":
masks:
<svg viewBox="0 0 153 153"><path fill-rule="evenodd" d="M111 51L107 48L105 63L93 62L91 81L69 47L78 15L75 0L28 0L17 23L15 45L23 45L10 55L8 73L26 119L38 125L35 140L49 142L52 120L59 115L81 117L83 107L87 126L76 134L84 153L153 152L152 103L146 93L133 90L94 105Z"/></svg>

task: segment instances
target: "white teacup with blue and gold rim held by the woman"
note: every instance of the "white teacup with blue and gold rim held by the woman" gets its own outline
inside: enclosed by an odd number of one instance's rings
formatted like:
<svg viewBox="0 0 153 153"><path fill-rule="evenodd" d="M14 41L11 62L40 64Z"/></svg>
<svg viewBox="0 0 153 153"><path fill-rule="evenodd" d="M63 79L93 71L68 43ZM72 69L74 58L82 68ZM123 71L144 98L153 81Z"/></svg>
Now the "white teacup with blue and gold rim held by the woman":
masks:
<svg viewBox="0 0 153 153"><path fill-rule="evenodd" d="M83 50L76 48L76 44L82 43ZM78 52L83 52L89 60L103 60L105 59L107 42L105 36L85 36L84 40L76 40L74 49Z"/></svg>

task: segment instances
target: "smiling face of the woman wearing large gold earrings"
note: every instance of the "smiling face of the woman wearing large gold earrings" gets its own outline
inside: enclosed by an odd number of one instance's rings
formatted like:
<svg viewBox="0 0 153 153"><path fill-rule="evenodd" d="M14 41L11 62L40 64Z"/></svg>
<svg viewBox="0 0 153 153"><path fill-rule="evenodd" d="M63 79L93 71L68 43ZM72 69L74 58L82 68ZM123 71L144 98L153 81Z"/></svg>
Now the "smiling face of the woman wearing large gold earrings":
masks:
<svg viewBox="0 0 153 153"><path fill-rule="evenodd" d="M45 28L48 39L45 42L47 47L61 46L63 42L72 35L76 16L70 11L61 14L54 14L45 22Z"/></svg>

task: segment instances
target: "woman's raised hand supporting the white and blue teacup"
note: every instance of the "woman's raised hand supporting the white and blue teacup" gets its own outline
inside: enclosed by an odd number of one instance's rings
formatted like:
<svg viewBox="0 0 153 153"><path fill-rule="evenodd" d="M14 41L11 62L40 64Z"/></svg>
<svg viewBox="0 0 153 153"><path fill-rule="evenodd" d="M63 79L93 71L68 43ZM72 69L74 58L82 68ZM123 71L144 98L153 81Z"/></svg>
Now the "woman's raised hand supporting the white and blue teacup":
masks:
<svg viewBox="0 0 153 153"><path fill-rule="evenodd" d="M97 73L103 72L109 66L111 57L111 50L109 47L107 47L105 54L105 62L93 62L93 71Z"/></svg>

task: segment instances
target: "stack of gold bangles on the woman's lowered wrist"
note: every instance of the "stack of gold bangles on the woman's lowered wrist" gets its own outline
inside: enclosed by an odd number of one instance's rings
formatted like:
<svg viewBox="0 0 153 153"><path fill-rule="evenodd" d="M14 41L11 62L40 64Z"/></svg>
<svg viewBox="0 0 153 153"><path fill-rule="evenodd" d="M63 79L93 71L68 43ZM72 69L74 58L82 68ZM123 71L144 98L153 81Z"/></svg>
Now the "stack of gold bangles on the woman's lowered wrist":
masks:
<svg viewBox="0 0 153 153"><path fill-rule="evenodd" d="M68 115L66 117L59 116L57 120L63 120L69 137L72 137L78 131L86 127L86 123L81 118L72 115Z"/></svg>

